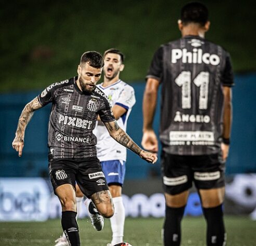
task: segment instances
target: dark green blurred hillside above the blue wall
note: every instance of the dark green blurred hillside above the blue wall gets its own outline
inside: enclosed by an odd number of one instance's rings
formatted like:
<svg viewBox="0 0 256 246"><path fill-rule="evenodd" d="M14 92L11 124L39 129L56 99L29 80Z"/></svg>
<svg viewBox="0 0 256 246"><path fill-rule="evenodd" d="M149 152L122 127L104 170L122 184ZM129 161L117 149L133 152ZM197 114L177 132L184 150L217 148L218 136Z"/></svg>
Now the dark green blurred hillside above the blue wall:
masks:
<svg viewBox="0 0 256 246"><path fill-rule="evenodd" d="M76 74L81 54L116 47L125 53L125 81L143 80L153 52L180 37L177 19L188 1L23 0L0 8L0 91L43 89ZM207 38L226 48L235 72L256 70L253 1L203 1Z"/></svg>

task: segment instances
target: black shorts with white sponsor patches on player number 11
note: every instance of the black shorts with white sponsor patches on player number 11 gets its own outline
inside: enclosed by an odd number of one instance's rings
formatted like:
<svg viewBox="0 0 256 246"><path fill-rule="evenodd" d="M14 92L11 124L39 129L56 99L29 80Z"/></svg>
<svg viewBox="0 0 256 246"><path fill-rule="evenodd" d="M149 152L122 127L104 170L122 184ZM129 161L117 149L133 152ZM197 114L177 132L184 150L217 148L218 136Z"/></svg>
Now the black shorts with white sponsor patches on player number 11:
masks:
<svg viewBox="0 0 256 246"><path fill-rule="evenodd" d="M176 195L192 187L212 189L224 187L225 162L218 154L181 156L161 154L164 192Z"/></svg>

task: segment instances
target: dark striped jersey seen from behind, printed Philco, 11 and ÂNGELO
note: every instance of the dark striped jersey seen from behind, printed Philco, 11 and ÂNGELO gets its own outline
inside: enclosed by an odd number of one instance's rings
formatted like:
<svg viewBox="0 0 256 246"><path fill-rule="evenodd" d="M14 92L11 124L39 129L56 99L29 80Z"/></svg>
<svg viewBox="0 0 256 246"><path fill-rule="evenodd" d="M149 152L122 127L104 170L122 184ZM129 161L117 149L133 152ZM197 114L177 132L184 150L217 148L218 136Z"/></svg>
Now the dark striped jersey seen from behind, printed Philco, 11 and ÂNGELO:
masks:
<svg viewBox="0 0 256 246"><path fill-rule="evenodd" d="M176 155L219 153L223 131L223 86L233 86L229 54L199 36L162 45L147 78L162 84L160 140Z"/></svg>

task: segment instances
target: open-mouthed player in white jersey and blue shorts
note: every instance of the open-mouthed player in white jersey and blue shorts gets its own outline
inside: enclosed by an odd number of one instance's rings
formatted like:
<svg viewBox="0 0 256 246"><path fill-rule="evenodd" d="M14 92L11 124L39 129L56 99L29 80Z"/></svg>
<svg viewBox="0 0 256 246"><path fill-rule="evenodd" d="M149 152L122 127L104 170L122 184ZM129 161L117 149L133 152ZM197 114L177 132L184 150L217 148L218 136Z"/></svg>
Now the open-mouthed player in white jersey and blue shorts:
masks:
<svg viewBox="0 0 256 246"><path fill-rule="evenodd" d="M109 98L112 112L119 126L126 131L127 119L135 104L134 89L119 78L124 69L124 55L117 49L109 49L104 53L104 82L97 85ZM97 157L109 186L114 203L114 215L110 218L112 246L123 241L125 212L122 201L122 185L125 175L126 149L109 136L101 121L94 130L97 137Z"/></svg>

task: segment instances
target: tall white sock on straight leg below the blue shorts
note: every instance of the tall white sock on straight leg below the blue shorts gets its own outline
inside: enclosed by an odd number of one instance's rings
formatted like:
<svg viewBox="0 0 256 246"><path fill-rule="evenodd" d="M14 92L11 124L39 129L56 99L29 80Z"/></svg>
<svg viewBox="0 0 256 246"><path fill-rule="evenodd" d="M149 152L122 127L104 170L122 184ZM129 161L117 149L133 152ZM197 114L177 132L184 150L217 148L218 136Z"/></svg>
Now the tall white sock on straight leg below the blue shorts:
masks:
<svg viewBox="0 0 256 246"><path fill-rule="evenodd" d="M122 197L114 197L114 215L110 218L112 229L111 244L117 244L123 241L125 211Z"/></svg>

